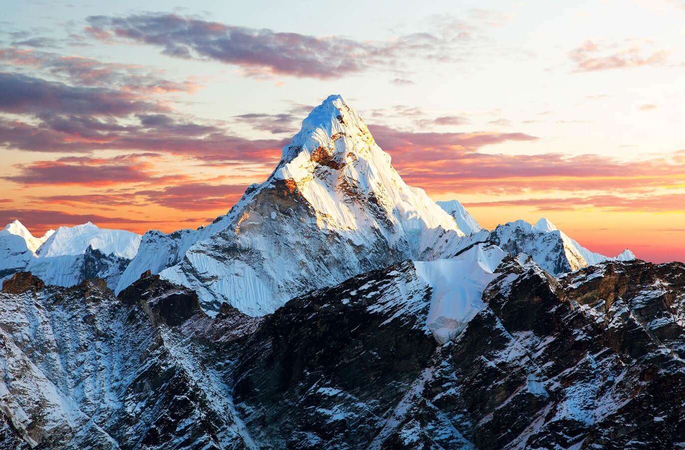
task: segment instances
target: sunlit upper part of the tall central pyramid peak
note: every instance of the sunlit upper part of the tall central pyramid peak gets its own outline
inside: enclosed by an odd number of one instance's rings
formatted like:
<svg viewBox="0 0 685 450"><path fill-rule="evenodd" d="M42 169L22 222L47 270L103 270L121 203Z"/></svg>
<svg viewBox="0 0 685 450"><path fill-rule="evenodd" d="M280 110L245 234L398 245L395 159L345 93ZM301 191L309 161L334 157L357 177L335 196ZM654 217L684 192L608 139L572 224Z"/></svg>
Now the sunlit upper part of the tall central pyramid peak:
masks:
<svg viewBox="0 0 685 450"><path fill-rule="evenodd" d="M340 95L312 110L282 154L271 179L297 190L320 213L322 227L356 229L370 212L390 233L393 227L456 232L454 221L422 189L402 181L390 155Z"/></svg>

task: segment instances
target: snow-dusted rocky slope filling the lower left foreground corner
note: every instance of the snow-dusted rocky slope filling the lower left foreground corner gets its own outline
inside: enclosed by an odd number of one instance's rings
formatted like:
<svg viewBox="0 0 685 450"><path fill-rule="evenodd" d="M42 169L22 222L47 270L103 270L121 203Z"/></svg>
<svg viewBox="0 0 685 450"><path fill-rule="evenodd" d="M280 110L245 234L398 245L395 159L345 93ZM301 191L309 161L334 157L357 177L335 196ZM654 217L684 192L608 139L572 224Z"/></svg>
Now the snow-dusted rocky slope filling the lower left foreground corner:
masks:
<svg viewBox="0 0 685 450"><path fill-rule="evenodd" d="M156 277L134 288L121 300L102 280L0 294L0 447L245 446L209 352L173 326L207 319L197 297Z"/></svg>

